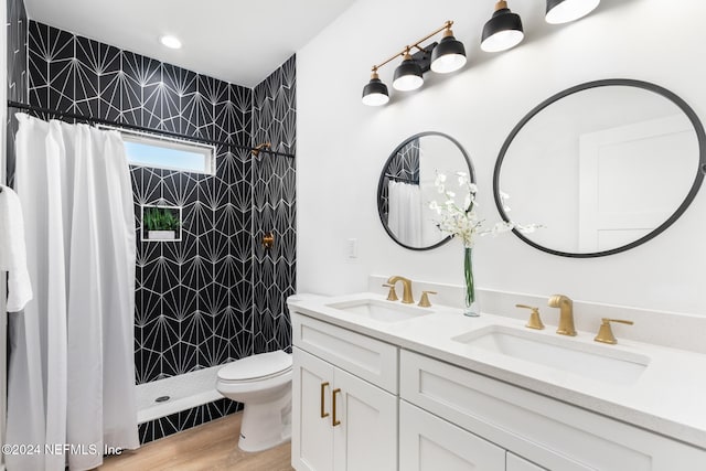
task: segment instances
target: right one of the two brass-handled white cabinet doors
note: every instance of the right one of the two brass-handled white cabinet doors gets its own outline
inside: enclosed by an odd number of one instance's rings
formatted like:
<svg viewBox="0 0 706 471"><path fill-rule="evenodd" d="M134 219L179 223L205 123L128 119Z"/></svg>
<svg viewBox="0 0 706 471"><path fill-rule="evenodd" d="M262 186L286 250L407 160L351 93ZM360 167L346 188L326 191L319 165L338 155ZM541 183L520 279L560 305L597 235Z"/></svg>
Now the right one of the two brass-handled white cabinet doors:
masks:
<svg viewBox="0 0 706 471"><path fill-rule="evenodd" d="M335 471L397 470L397 396L342 370L334 372ZM339 392L340 389L340 392Z"/></svg>

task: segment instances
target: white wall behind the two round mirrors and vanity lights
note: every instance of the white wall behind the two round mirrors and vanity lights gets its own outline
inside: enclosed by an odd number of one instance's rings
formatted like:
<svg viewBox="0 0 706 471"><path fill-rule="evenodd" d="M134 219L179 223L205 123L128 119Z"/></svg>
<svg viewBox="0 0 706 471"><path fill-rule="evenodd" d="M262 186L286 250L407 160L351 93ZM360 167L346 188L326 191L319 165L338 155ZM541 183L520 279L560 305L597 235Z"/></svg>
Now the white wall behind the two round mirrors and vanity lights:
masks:
<svg viewBox="0 0 706 471"><path fill-rule="evenodd" d="M368 274L462 283L458 242L411 251L387 237L377 216L377 179L406 137L437 130L458 139L478 173L481 212L499 218L492 172L505 137L535 105L569 86L599 78L637 78L664 86L706 119L702 28L706 4L684 0L603 0L591 15L552 26L543 0L512 0L525 42L500 55L480 51L493 1L359 0L297 53L298 290L366 289ZM382 108L361 104L370 67L446 20L464 42L469 64ZM397 63L382 68L391 84ZM666 183L668 184L668 183ZM359 258L346 257L356 238ZM483 238L475 249L482 288L569 297L706 315L706 189L660 237L609 257L570 259L536 250L513 235Z"/></svg>

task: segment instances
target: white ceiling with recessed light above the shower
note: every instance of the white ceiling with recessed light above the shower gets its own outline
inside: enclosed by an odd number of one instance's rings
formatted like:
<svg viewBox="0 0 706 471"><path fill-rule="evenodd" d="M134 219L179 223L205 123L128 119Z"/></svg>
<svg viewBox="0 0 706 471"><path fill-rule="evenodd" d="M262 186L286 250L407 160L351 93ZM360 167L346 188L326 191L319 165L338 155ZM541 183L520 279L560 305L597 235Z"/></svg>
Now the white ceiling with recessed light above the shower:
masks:
<svg viewBox="0 0 706 471"><path fill-rule="evenodd" d="M28 17L72 33L255 87L355 0L24 0ZM169 50L172 34L183 47Z"/></svg>

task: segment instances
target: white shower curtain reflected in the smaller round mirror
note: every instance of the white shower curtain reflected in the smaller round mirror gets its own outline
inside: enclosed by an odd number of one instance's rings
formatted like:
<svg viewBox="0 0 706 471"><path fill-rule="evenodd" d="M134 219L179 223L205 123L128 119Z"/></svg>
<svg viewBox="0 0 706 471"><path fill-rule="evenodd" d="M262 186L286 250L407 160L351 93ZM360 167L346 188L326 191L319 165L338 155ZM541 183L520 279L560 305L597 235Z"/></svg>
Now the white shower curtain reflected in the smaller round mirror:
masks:
<svg viewBox="0 0 706 471"><path fill-rule="evenodd" d="M421 190L418 184L391 180L387 185L387 227L397 239L421 246Z"/></svg>

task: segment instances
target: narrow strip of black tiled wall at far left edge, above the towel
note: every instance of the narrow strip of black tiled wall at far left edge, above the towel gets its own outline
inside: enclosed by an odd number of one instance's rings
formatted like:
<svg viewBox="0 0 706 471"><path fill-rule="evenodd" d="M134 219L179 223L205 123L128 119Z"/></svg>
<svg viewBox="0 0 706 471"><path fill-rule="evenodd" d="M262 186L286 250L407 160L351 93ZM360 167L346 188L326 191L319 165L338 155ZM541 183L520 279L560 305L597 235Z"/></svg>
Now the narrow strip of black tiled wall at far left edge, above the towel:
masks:
<svg viewBox="0 0 706 471"><path fill-rule="evenodd" d="M8 52L8 99L26 103L26 35L28 19L22 0L8 0L7 24L7 52ZM2 105L4 106L4 105ZM7 131L7 175L8 184L14 181L14 135L18 131L18 121L12 117L14 109L8 109ZM2 183L2 182L0 182Z"/></svg>

